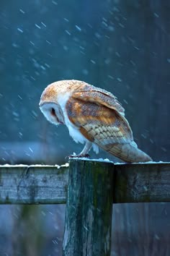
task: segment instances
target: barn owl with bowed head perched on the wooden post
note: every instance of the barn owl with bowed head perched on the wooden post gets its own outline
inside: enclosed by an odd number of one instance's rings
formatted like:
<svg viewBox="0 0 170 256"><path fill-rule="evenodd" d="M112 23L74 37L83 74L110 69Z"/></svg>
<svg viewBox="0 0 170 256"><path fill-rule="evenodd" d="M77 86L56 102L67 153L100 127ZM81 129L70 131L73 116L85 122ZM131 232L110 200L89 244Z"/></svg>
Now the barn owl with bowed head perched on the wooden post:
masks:
<svg viewBox="0 0 170 256"><path fill-rule="evenodd" d="M112 93L79 80L62 80L45 88L39 105L48 121L65 124L73 140L85 144L73 156L84 157L92 147L96 153L102 148L125 162L151 161L138 149L125 110Z"/></svg>

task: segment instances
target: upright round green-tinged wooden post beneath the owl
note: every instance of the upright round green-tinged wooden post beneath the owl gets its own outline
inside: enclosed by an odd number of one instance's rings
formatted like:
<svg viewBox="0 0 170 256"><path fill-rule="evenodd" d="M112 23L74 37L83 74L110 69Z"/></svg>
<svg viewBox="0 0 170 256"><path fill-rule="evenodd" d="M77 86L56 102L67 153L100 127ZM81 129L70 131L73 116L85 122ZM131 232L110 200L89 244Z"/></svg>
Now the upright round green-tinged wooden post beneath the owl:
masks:
<svg viewBox="0 0 170 256"><path fill-rule="evenodd" d="M71 159L64 256L110 256L114 164Z"/></svg>

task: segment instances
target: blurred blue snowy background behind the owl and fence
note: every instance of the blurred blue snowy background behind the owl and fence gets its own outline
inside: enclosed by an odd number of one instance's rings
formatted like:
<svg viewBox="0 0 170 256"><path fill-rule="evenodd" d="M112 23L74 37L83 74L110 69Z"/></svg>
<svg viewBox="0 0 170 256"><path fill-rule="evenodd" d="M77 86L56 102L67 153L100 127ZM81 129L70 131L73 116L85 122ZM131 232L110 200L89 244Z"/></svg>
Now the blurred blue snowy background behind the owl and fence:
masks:
<svg viewBox="0 0 170 256"><path fill-rule="evenodd" d="M168 0L0 1L0 163L61 164L82 150L38 107L65 79L116 95L139 148L169 161L169 13ZM1 205L0 255L61 256L64 214L65 205ZM112 224L112 256L170 255L168 203L114 205Z"/></svg>

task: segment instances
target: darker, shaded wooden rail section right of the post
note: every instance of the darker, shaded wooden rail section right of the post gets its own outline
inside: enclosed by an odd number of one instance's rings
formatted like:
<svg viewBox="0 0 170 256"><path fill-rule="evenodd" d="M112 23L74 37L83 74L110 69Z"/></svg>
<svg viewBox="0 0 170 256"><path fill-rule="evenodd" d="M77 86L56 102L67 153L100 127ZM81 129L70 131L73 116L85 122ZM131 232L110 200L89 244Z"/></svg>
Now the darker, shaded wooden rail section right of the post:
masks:
<svg viewBox="0 0 170 256"><path fill-rule="evenodd" d="M170 202L170 163L115 165L113 202Z"/></svg>

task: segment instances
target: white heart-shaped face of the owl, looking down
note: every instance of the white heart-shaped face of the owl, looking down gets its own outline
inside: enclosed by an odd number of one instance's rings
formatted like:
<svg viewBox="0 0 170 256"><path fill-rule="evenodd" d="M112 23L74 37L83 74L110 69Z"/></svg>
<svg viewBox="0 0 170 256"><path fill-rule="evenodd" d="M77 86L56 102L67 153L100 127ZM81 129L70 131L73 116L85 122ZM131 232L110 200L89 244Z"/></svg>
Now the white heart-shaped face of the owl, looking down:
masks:
<svg viewBox="0 0 170 256"><path fill-rule="evenodd" d="M50 121L50 123L58 125L64 124L63 113L61 107L57 103L44 102L40 103L42 114Z"/></svg>

